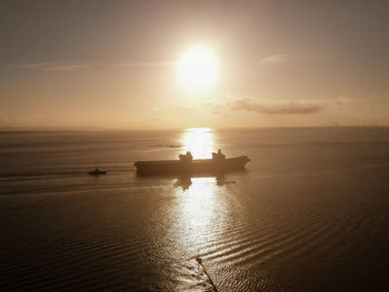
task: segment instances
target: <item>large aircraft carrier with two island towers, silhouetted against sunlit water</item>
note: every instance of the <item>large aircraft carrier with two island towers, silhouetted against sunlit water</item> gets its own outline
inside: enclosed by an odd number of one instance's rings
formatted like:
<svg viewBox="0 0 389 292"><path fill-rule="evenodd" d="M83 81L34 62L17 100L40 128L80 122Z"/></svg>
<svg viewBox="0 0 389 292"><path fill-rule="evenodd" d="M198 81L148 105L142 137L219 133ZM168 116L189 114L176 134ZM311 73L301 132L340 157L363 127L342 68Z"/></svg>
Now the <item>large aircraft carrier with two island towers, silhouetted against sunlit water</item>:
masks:
<svg viewBox="0 0 389 292"><path fill-rule="evenodd" d="M193 159L191 152L180 154L178 160L136 161L138 174L196 174L226 173L245 170L250 159L246 155L226 158L221 153L212 153L212 159Z"/></svg>

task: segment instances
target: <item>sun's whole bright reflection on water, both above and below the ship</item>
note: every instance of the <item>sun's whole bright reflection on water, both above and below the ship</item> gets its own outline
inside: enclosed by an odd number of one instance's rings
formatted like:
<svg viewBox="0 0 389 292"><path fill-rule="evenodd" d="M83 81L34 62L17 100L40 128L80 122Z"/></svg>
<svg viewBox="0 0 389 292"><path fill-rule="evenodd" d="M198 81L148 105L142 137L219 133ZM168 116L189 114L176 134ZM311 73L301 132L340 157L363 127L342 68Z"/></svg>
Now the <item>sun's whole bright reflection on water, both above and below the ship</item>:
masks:
<svg viewBox="0 0 389 292"><path fill-rule="evenodd" d="M188 129L182 135L186 151L191 151L194 159L211 158L213 133L208 128ZM180 177L174 182L174 224L170 234L174 238L176 250L183 252L186 264L181 274L190 286L210 288L209 280L196 259L206 264L207 254L223 238L223 230L229 217L228 188L216 177ZM181 253L180 253L181 254ZM190 268L188 268L190 266ZM201 280L202 279L202 280ZM201 281L199 281L201 280Z"/></svg>

